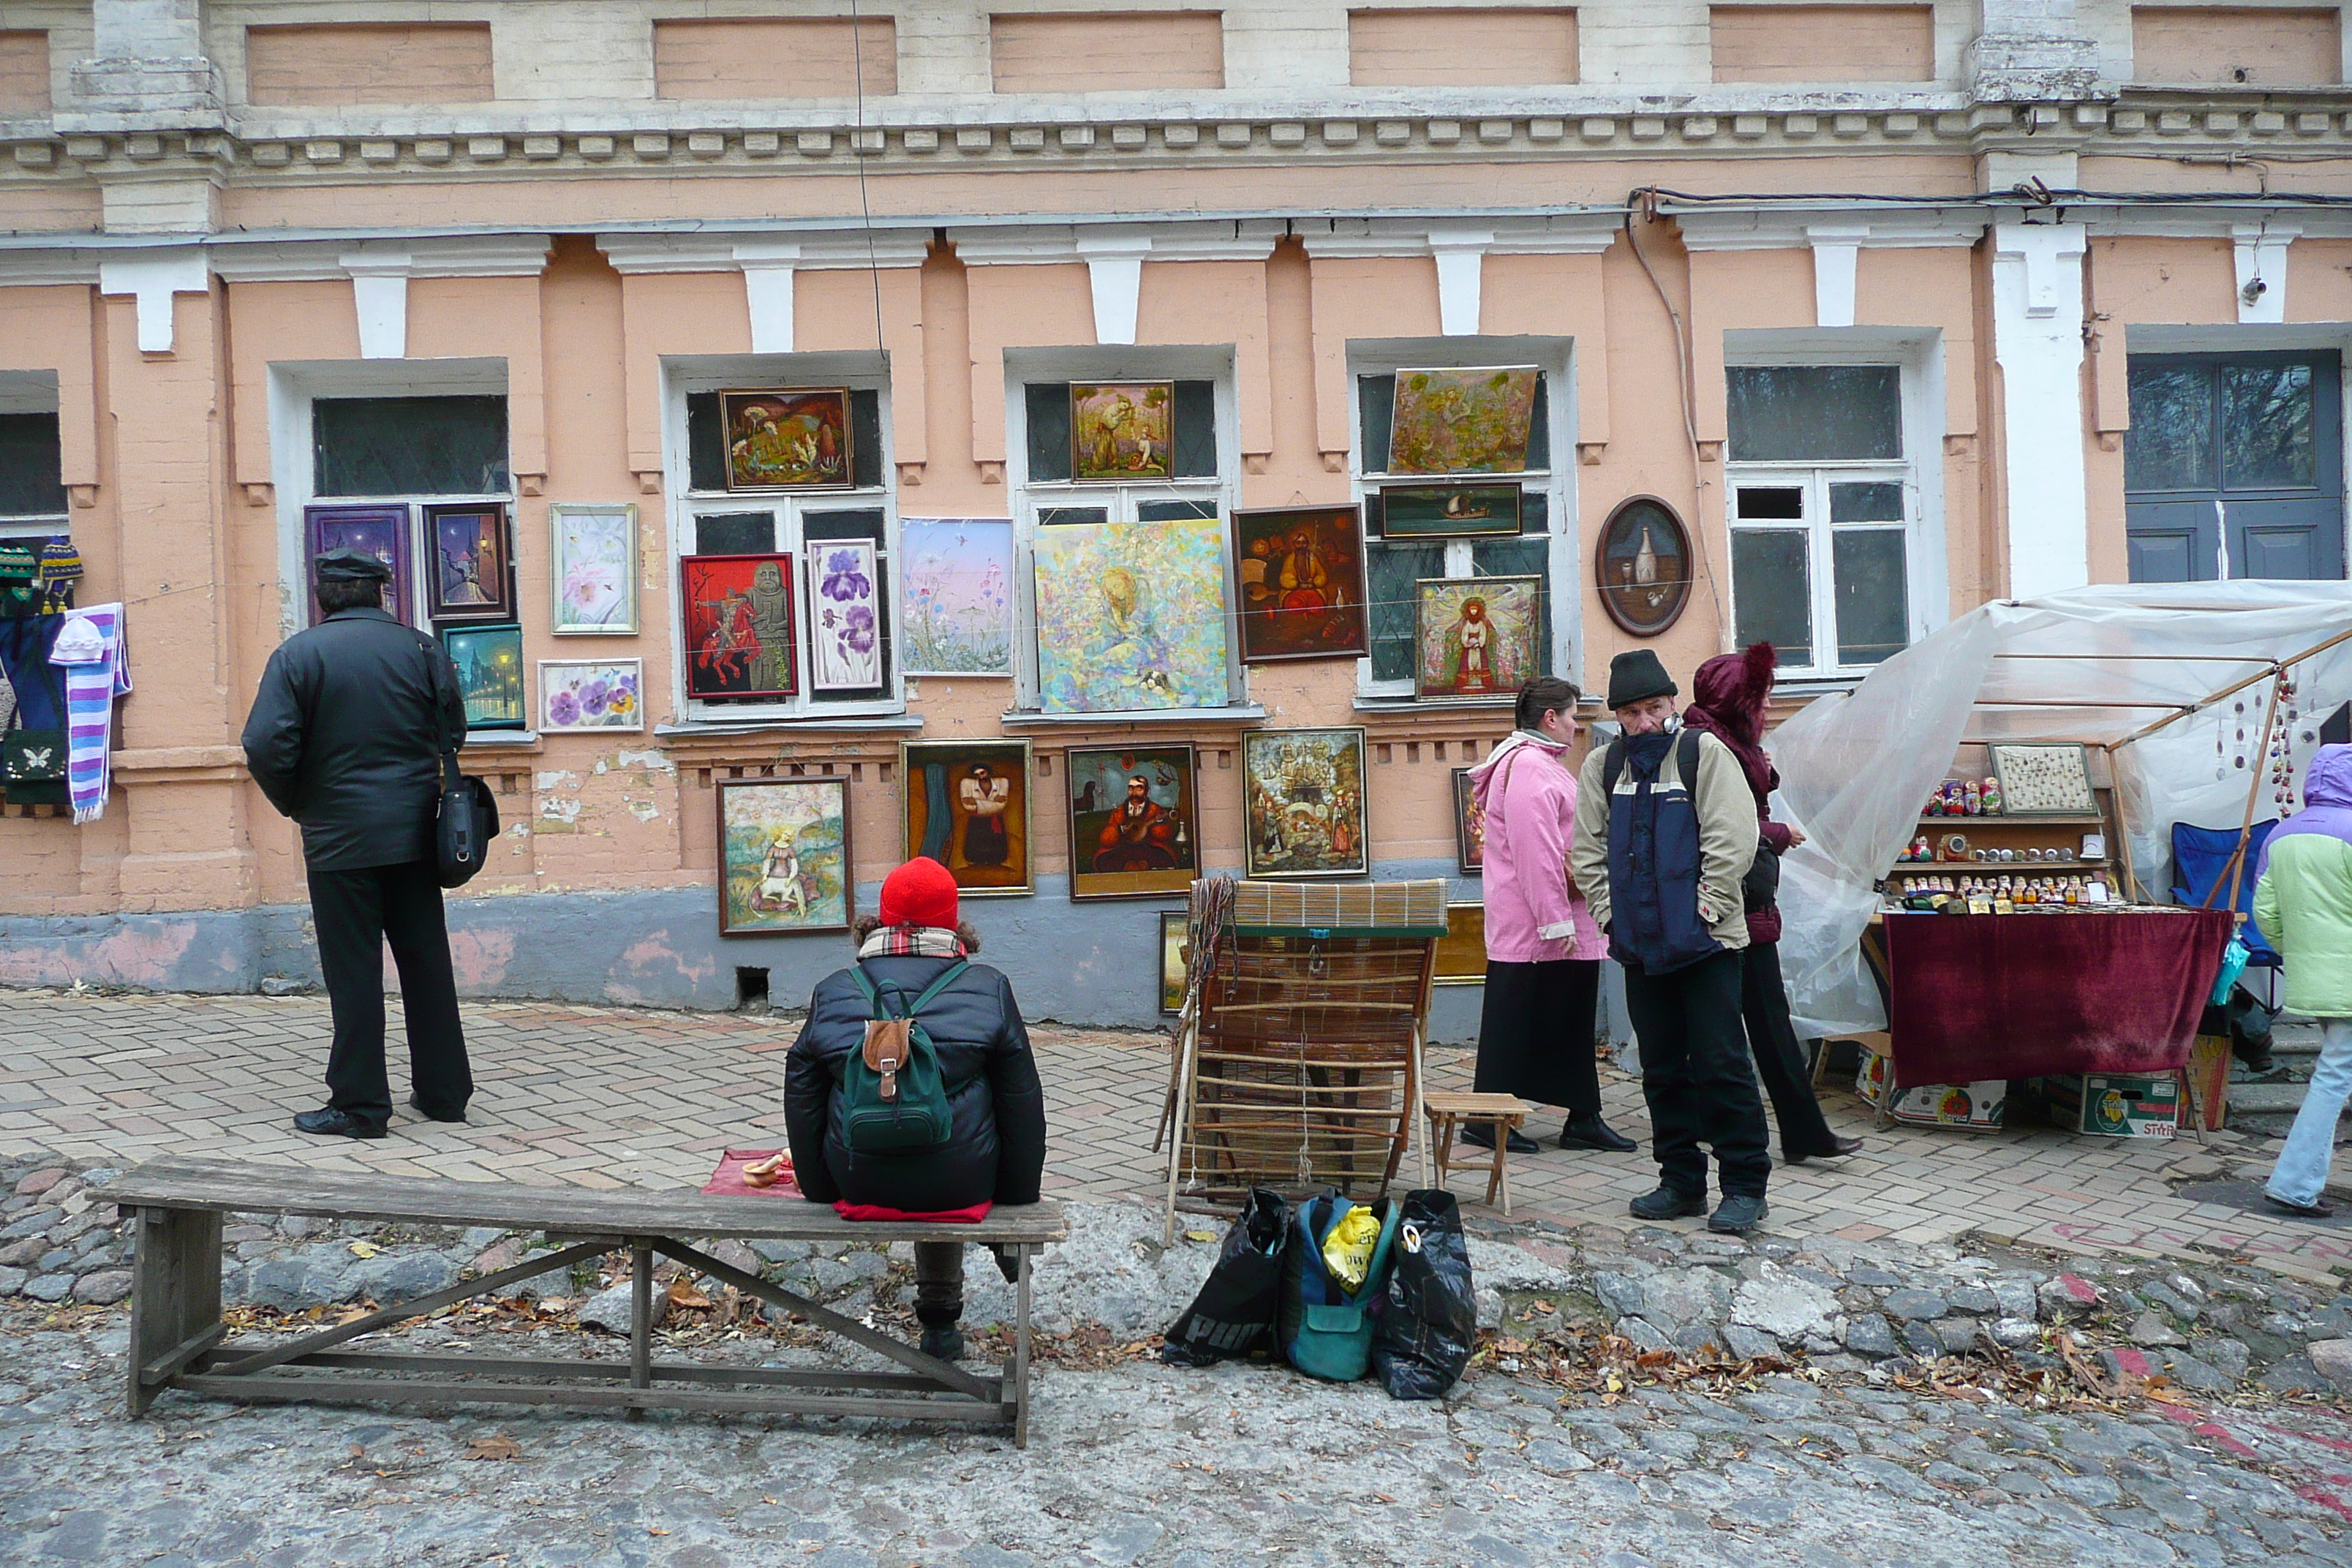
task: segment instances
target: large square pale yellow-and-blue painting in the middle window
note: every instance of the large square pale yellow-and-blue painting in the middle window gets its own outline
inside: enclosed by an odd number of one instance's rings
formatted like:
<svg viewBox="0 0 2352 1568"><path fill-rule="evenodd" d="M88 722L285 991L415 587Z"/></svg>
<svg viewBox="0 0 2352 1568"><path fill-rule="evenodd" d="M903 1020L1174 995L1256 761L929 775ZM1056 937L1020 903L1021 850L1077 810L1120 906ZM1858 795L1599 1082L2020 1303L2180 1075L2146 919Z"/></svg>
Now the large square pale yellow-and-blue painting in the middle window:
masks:
<svg viewBox="0 0 2352 1568"><path fill-rule="evenodd" d="M1223 708L1223 543L1214 517L1040 529L1040 705Z"/></svg>

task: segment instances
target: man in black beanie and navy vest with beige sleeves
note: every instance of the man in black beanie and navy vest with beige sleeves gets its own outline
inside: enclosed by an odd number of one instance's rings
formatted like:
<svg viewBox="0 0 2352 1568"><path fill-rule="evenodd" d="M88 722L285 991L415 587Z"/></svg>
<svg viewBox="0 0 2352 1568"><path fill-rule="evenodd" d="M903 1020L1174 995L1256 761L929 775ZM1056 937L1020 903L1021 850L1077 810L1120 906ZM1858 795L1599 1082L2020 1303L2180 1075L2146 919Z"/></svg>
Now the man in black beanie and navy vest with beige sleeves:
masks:
<svg viewBox="0 0 2352 1568"><path fill-rule="evenodd" d="M1651 649L1609 663L1609 708L1625 733L1585 757L1569 867L1642 1044L1658 1190L1639 1220L1708 1213L1708 1147L1724 1201L1708 1229L1745 1234L1766 1211L1764 1100L1740 1025L1740 877L1757 853L1757 809L1731 748L1682 729L1679 689Z"/></svg>

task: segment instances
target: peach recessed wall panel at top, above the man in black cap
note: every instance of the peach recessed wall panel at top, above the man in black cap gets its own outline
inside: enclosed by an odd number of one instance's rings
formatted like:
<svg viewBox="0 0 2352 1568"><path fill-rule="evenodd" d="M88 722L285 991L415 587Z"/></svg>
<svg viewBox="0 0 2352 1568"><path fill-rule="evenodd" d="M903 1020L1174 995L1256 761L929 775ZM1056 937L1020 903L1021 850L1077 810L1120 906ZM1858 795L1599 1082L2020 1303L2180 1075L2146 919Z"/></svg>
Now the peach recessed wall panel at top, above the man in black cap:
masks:
<svg viewBox="0 0 2352 1568"><path fill-rule="evenodd" d="M487 21L245 28L245 101L489 103Z"/></svg>

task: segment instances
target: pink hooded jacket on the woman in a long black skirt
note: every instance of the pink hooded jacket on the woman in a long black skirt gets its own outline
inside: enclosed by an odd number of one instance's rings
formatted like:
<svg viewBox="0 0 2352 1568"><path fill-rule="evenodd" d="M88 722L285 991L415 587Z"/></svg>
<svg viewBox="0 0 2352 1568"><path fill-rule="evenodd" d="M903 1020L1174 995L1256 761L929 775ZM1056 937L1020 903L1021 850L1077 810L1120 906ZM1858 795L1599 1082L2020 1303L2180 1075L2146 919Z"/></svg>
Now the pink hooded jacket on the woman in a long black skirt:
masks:
<svg viewBox="0 0 2352 1568"><path fill-rule="evenodd" d="M1609 945L1585 900L1569 891L1576 773L1564 745L1526 731L1470 769L1470 799L1486 813L1486 961L1599 959Z"/></svg>

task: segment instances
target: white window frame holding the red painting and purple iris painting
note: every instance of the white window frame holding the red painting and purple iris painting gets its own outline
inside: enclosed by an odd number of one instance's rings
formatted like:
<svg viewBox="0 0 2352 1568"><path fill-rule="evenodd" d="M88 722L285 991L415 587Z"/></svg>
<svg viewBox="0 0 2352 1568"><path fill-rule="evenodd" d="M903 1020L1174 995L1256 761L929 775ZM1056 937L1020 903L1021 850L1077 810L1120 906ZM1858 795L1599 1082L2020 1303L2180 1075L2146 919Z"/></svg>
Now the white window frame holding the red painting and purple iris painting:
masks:
<svg viewBox="0 0 2352 1568"><path fill-rule="evenodd" d="M828 724L835 719L896 717L906 712L906 654L898 642L898 463L891 449L889 357L877 353L802 353L802 355L675 355L661 360L661 454L668 517L666 616L670 625L670 698L673 712L689 724ZM691 489L694 470L687 451L687 397L694 393L741 393L757 388L849 388L880 393L882 484L863 489L809 491L729 491ZM809 512L882 512L882 581L889 585L889 684L870 698L818 698L809 691L809 557L802 522ZM687 621L677 609L680 567L696 555L694 522L722 512L776 512L776 552L793 557L793 658L800 691L776 703L701 703L687 701Z"/></svg>

